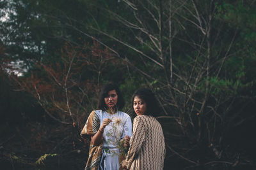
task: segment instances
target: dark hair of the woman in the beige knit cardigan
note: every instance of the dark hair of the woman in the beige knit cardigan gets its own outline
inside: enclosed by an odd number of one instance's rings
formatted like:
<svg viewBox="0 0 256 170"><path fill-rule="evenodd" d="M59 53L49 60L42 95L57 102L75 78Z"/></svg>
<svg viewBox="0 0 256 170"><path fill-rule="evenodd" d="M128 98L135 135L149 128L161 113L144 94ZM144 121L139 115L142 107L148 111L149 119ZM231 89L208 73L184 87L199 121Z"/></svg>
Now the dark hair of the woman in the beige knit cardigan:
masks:
<svg viewBox="0 0 256 170"><path fill-rule="evenodd" d="M145 115L150 115L152 117L159 116L161 109L159 107L159 103L157 102L156 97L154 96L151 90L145 89L145 88L136 90L132 95L132 106L133 106L134 97L136 96L146 103L147 110Z"/></svg>

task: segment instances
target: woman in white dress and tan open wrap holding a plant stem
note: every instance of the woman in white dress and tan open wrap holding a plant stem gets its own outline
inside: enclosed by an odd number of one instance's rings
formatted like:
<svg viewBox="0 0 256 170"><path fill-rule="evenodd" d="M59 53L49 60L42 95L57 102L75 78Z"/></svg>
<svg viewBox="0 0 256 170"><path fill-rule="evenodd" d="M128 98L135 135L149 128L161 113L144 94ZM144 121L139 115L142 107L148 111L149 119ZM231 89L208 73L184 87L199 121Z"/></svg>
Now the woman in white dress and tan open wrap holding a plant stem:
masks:
<svg viewBox="0 0 256 170"><path fill-rule="evenodd" d="M100 93L98 108L92 111L81 136L91 136L90 151L84 169L119 169L120 146L122 139L132 133L131 118L120 111L124 97L114 83L105 85Z"/></svg>

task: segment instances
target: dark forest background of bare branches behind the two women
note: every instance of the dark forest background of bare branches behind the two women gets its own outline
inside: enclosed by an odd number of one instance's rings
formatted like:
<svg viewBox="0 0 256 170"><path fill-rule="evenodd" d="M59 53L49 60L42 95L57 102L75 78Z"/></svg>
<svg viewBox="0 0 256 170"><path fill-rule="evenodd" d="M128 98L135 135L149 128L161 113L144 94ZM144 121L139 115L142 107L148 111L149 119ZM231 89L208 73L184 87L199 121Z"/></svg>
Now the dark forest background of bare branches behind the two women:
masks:
<svg viewBox="0 0 256 170"><path fill-rule="evenodd" d="M164 169L255 169L255 0L1 0L0 166L83 169L102 85L161 105ZM134 118L134 115L131 115Z"/></svg>

